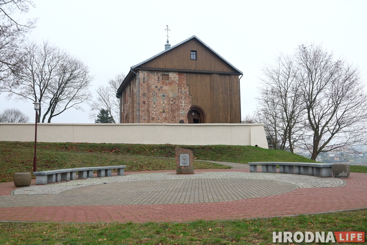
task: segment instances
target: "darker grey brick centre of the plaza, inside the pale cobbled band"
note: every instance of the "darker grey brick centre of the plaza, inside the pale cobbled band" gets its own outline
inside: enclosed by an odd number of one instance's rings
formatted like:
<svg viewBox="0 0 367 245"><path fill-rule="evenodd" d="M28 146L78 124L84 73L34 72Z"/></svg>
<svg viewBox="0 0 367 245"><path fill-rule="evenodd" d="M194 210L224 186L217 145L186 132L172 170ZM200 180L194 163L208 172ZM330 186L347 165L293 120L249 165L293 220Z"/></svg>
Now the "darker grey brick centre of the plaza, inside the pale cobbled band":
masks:
<svg viewBox="0 0 367 245"><path fill-rule="evenodd" d="M294 184L273 180L177 179L89 185L53 195L3 196L0 207L149 205L235 201L284 194Z"/></svg>

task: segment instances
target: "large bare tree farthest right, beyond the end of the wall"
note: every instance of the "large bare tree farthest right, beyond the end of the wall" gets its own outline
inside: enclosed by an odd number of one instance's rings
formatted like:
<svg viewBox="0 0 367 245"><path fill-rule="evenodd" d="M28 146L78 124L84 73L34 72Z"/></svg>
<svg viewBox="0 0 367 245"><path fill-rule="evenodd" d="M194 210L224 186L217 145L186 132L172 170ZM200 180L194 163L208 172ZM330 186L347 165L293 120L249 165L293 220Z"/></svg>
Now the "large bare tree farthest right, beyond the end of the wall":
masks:
<svg viewBox="0 0 367 245"><path fill-rule="evenodd" d="M296 57L311 159L320 152L366 144L366 84L359 69L314 44L299 45Z"/></svg>

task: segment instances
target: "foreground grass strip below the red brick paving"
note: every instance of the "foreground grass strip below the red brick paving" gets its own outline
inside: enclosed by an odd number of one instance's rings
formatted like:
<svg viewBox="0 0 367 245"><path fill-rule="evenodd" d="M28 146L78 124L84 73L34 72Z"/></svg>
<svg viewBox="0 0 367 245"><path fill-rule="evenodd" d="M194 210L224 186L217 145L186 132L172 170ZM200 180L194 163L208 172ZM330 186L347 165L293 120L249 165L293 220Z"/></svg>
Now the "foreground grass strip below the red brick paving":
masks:
<svg viewBox="0 0 367 245"><path fill-rule="evenodd" d="M273 244L273 231L367 231L366 214L364 209L270 219L197 220L188 223L0 223L0 244L263 245Z"/></svg>

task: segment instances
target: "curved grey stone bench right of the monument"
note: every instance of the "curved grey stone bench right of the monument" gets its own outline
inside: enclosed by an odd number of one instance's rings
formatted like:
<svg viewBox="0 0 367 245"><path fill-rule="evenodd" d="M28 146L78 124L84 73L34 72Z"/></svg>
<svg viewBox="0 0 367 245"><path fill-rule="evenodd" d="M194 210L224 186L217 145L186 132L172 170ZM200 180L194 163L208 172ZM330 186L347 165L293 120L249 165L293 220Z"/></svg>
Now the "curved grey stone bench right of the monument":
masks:
<svg viewBox="0 0 367 245"><path fill-rule="evenodd" d="M308 162L248 162L250 172L257 172L257 165L261 165L262 172L306 174L321 177L333 177L331 167L333 163L308 163Z"/></svg>

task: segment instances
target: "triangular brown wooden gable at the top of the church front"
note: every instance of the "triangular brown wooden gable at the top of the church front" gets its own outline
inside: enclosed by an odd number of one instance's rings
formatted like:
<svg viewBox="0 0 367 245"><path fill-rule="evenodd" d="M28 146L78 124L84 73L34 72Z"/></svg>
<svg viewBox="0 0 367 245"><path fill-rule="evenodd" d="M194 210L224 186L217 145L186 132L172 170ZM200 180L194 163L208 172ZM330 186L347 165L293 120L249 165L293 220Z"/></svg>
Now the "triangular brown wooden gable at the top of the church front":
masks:
<svg viewBox="0 0 367 245"><path fill-rule="evenodd" d="M197 51L197 60L191 60L191 50ZM191 70L203 72L230 72L239 74L218 55L193 38L168 50L137 68Z"/></svg>

